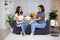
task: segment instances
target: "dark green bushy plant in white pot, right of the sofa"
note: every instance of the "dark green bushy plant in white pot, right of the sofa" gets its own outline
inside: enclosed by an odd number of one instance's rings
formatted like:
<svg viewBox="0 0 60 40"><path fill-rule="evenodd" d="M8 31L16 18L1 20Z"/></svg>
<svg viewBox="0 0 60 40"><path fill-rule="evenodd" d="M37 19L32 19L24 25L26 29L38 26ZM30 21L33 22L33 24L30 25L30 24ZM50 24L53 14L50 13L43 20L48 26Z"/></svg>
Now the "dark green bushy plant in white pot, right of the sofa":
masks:
<svg viewBox="0 0 60 40"><path fill-rule="evenodd" d="M57 19L57 10L54 11L52 10L50 13L49 13L49 20L50 20L50 26L56 26L56 19Z"/></svg>

